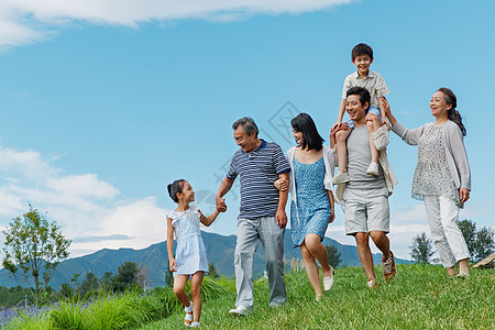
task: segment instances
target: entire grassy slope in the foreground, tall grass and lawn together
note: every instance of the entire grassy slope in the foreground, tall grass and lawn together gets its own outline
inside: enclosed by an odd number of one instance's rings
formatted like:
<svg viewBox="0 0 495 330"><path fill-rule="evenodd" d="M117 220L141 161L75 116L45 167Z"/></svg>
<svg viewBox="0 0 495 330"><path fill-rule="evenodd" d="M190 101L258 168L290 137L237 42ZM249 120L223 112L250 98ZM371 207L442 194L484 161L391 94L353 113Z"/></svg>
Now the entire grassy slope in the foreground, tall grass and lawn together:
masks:
<svg viewBox="0 0 495 330"><path fill-rule="evenodd" d="M382 267L375 267L381 274ZM392 283L365 285L361 267L339 268L320 301L305 272L286 274L287 302L268 307L266 279L255 283L255 308L246 317L228 314L235 300L232 279L205 278L204 329L495 329L495 270L472 270L471 278L449 278L441 266L398 265ZM0 314L6 330L184 329L184 309L169 288L127 293L81 302L57 301L18 316ZM7 317L7 318L6 318Z"/></svg>

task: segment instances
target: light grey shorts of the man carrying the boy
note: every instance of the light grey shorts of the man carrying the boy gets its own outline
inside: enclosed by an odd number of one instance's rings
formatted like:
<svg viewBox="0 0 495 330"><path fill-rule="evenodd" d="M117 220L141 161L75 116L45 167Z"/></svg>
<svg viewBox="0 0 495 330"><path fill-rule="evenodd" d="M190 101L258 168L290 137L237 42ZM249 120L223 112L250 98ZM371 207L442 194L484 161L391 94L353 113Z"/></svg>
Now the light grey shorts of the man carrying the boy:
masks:
<svg viewBox="0 0 495 330"><path fill-rule="evenodd" d="M383 194L380 190L375 190L378 194L366 194L373 190L349 188L344 190L345 234L352 235L358 232L371 231L389 232L388 191L385 190Z"/></svg>

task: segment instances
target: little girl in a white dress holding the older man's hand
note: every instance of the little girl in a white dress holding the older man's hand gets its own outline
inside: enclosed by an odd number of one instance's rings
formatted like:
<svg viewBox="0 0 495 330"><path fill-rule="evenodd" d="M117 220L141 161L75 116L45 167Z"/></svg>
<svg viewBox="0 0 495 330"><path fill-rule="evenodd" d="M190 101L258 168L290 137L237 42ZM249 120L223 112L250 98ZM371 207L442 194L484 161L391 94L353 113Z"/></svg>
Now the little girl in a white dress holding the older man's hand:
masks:
<svg viewBox="0 0 495 330"><path fill-rule="evenodd" d="M201 315L201 284L205 272L208 271L205 243L201 239L199 222L210 226L219 215L215 210L205 217L196 205L195 191L185 179L175 180L167 186L168 195L177 204L174 211L167 213L167 252L168 266L174 272L174 293L184 305L186 317L184 326L199 327ZM174 258L174 233L177 240L176 257ZM187 279L190 278L190 295L186 294Z"/></svg>

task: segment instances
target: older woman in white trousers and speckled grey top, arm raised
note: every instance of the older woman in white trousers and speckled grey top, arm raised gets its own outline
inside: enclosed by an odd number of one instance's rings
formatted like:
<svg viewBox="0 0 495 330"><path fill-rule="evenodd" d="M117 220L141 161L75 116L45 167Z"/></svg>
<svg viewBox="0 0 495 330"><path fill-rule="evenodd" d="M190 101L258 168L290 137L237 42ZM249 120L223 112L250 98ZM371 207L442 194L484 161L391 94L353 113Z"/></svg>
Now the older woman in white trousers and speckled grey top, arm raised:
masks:
<svg viewBox="0 0 495 330"><path fill-rule="evenodd" d="M466 131L455 95L440 88L431 97L435 122L408 130L397 122L386 101L382 103L392 130L406 143L418 145L418 163L413 178L413 198L422 199L440 261L450 276L469 277L470 253L458 227L459 210L470 198L471 172L463 136Z"/></svg>

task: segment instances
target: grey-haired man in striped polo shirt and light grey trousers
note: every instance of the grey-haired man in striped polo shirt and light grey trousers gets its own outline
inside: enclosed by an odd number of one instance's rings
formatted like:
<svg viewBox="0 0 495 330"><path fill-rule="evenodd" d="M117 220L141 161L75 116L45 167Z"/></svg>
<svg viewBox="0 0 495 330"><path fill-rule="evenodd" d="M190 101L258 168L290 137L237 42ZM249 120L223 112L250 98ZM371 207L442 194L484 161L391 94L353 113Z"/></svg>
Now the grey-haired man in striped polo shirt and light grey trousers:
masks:
<svg viewBox="0 0 495 330"><path fill-rule="evenodd" d="M244 117L232 124L235 152L229 173L223 178L216 201L227 209L223 196L241 177L241 208L238 218L238 241L234 254L238 298L232 315L246 315L254 305L253 256L260 244L266 255L266 271L272 296L270 306L277 307L286 299L284 282L284 233L287 224L285 205L287 191L278 191L273 183L288 180L289 164L276 143L261 140L253 119Z"/></svg>

